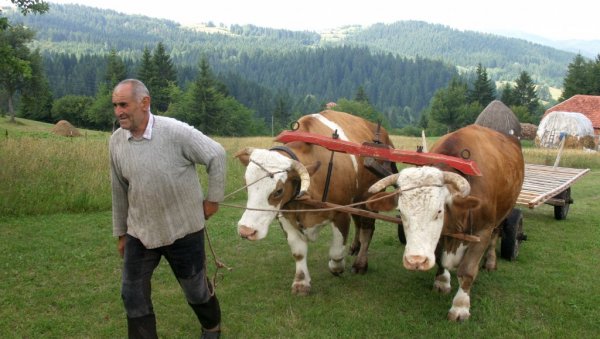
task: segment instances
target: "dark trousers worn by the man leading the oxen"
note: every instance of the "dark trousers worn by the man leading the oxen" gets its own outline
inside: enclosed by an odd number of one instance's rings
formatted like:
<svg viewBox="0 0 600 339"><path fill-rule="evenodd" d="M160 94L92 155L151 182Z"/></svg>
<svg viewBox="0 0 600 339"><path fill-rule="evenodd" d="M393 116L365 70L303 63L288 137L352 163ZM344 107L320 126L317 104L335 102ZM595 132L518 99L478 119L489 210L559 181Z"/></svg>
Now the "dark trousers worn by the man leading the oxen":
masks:
<svg viewBox="0 0 600 339"><path fill-rule="evenodd" d="M154 314L150 280L164 256L203 327L212 328L219 324L216 322L217 319L220 321L218 301L216 296L211 297L212 287L204 268L204 230L188 234L171 245L154 249L147 249L137 238L130 235L126 237L121 296L128 318ZM205 314L199 315L196 305L211 306L208 310L201 307L205 309L202 312ZM210 321L203 321L203 317L210 318Z"/></svg>

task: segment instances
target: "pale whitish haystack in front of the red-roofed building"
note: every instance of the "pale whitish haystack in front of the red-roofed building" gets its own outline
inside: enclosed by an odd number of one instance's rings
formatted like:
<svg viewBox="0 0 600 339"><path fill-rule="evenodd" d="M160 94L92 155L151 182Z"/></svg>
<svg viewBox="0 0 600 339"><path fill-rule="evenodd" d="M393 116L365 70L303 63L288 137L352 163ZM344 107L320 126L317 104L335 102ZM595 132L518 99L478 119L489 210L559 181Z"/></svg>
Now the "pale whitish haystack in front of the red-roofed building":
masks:
<svg viewBox="0 0 600 339"><path fill-rule="evenodd" d="M594 149L594 127L592 121L581 113L551 112L538 127L535 144L540 147L557 148L561 135L566 137L565 147Z"/></svg>

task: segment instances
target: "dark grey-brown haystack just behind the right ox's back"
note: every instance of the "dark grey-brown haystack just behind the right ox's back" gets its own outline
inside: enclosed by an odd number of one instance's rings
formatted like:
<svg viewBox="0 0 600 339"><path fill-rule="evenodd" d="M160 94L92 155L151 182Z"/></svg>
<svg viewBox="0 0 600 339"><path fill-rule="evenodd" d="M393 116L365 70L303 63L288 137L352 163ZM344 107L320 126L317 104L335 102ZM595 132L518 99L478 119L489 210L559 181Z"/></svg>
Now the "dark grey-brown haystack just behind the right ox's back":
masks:
<svg viewBox="0 0 600 339"><path fill-rule="evenodd" d="M515 113L500 100L490 102L486 108L479 113L477 120L475 120L475 124L521 138L521 124L519 123L519 119Z"/></svg>

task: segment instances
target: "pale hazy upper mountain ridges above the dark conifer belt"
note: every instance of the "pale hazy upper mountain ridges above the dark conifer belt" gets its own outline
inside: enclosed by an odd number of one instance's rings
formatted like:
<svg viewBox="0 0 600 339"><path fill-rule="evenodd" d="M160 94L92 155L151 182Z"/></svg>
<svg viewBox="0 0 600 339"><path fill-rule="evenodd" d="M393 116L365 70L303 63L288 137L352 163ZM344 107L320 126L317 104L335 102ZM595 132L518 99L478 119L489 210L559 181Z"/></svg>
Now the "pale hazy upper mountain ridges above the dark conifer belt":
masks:
<svg viewBox="0 0 600 339"><path fill-rule="evenodd" d="M107 53L110 48L115 48L122 55L135 58L141 55L144 47L162 41L172 47L172 57L183 64L194 63L195 57L211 49L286 53L330 45L354 45L366 46L374 53L442 60L462 71L472 70L481 63L498 81L514 80L525 70L541 85L561 87L567 66L575 57L573 52L541 43L460 31L421 21L348 26L317 33L252 25L184 27L169 20L81 5L52 4L50 11L41 16L22 17L14 11L6 13L11 21L22 21L37 30L37 44L45 51L80 55ZM565 44L553 46L576 48Z"/></svg>

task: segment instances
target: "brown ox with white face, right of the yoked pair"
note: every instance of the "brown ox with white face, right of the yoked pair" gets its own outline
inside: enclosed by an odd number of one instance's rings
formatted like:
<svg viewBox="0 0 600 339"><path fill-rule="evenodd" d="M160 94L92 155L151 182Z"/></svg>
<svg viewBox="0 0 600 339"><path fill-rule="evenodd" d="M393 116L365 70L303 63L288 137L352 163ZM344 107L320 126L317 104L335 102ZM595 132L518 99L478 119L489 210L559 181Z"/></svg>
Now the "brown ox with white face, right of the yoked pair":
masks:
<svg viewBox="0 0 600 339"><path fill-rule="evenodd" d="M519 141L486 127L470 125L442 137L432 153L469 156L482 176L457 174L445 166L410 167L382 179L371 192L396 185L399 194L368 203L374 210L400 211L406 247L403 264L409 270L438 265L434 289L449 293L450 272L456 270L459 289L448 312L449 320L470 316L470 290L485 255L485 268L496 269L495 245L503 220L513 209L524 176ZM397 199L397 202L395 201ZM465 241L453 234L480 239Z"/></svg>

